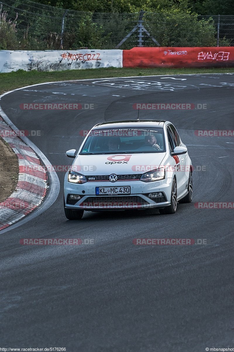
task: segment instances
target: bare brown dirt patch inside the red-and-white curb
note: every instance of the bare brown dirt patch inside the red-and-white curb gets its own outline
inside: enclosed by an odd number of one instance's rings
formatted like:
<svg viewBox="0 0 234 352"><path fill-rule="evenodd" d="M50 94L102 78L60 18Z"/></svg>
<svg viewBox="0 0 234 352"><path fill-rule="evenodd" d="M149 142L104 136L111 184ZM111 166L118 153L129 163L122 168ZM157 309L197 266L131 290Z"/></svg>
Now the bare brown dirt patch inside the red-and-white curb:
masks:
<svg viewBox="0 0 234 352"><path fill-rule="evenodd" d="M19 163L11 147L0 137L0 202L7 199L18 182Z"/></svg>

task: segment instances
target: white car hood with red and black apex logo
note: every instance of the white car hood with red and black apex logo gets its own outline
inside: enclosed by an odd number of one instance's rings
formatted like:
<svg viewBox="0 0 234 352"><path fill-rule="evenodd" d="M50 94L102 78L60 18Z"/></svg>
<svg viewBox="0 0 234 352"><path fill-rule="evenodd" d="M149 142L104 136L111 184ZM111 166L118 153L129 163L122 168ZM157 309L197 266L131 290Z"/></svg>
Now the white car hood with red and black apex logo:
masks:
<svg viewBox="0 0 234 352"><path fill-rule="evenodd" d="M143 174L157 169L166 153L78 155L71 169L84 175Z"/></svg>

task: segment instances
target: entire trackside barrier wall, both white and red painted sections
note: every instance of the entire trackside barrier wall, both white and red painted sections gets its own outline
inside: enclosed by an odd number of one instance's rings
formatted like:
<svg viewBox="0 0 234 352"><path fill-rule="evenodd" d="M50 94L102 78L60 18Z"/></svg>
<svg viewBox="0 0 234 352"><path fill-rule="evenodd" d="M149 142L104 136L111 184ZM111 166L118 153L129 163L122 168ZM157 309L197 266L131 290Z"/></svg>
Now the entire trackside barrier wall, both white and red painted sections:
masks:
<svg viewBox="0 0 234 352"><path fill-rule="evenodd" d="M0 72L62 71L100 67L234 67L234 47L131 50L0 50Z"/></svg>

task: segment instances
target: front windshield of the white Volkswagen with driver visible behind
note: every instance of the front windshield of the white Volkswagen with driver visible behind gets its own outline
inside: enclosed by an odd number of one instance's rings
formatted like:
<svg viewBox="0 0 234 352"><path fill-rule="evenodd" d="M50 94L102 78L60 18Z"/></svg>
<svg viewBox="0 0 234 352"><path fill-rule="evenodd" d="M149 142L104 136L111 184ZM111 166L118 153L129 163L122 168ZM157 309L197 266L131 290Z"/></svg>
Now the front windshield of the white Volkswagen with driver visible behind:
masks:
<svg viewBox="0 0 234 352"><path fill-rule="evenodd" d="M90 131L80 154L163 152L163 128L128 127Z"/></svg>

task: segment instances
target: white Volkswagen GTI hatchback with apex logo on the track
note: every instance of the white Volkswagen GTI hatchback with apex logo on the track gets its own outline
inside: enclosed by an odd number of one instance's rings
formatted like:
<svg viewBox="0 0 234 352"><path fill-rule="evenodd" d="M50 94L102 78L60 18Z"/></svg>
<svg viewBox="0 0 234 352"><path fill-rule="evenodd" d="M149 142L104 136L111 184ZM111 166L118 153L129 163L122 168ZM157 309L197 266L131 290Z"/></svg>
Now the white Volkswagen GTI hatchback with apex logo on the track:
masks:
<svg viewBox="0 0 234 352"><path fill-rule="evenodd" d="M159 208L173 214L193 196L192 162L169 121L117 121L92 128L64 180L67 219L84 210Z"/></svg>

